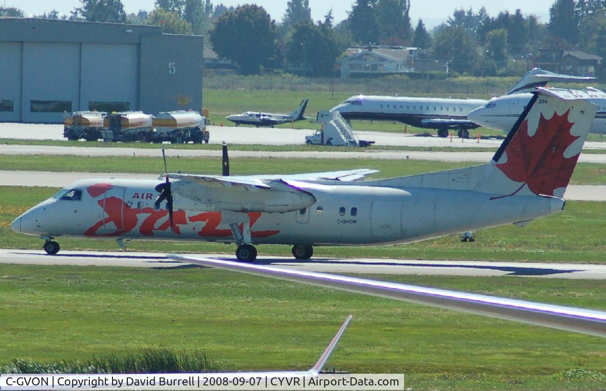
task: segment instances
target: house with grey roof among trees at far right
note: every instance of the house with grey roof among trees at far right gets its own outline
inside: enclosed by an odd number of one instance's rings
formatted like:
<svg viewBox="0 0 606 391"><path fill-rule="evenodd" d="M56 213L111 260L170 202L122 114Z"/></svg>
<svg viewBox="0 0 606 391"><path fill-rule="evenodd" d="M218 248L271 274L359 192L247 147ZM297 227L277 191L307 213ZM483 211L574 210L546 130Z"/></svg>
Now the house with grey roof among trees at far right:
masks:
<svg viewBox="0 0 606 391"><path fill-rule="evenodd" d="M544 70L574 76L599 76L602 57L561 48L542 48L534 64Z"/></svg>

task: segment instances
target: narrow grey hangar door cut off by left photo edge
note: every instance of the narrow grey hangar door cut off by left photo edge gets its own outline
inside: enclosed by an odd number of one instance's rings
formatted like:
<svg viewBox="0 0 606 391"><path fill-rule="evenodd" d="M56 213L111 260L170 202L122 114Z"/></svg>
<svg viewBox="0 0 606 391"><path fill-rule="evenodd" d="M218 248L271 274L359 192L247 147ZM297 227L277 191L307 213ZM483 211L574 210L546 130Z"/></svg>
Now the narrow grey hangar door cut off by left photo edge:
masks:
<svg viewBox="0 0 606 391"><path fill-rule="evenodd" d="M0 42L0 121L21 121L21 42Z"/></svg>

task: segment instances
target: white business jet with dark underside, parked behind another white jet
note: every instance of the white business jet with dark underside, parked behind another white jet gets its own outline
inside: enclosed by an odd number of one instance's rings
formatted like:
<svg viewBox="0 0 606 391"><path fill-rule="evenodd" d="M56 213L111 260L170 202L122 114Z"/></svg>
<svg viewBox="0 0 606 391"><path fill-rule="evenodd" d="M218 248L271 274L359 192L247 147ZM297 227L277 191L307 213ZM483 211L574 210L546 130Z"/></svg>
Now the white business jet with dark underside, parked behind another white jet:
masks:
<svg viewBox="0 0 606 391"><path fill-rule="evenodd" d="M526 92L530 99L531 93L537 87L545 87L548 82L586 82L595 78L581 76L559 75L534 68L522 76L502 98L511 94ZM501 98L499 98L501 99ZM416 98L410 96L351 96L331 110L338 111L345 119L367 119L370 121L399 121L405 124L424 128L438 129L438 136L447 137L448 130L454 129L459 137L467 138L469 130L476 129L484 122L471 121L468 116L474 109L483 107L489 101L485 99L453 99L453 98ZM522 110L516 111L508 123L507 130L521 115ZM489 126L490 127L490 126Z"/></svg>

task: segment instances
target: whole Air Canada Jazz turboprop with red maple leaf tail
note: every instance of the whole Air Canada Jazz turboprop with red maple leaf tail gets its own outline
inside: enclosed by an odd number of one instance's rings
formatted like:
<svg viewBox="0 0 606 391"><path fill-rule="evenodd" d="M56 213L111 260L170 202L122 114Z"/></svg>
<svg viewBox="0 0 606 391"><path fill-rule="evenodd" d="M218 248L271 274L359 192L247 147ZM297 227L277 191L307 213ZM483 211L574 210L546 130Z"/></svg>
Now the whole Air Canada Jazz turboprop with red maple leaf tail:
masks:
<svg viewBox="0 0 606 391"><path fill-rule="evenodd" d="M58 236L290 244L399 244L528 221L564 208L565 189L597 107L538 89L493 159L462 169L358 182L376 170L295 175L165 174L164 181L85 179L12 222L56 253ZM225 167L224 167L225 168ZM154 200L155 195L159 193ZM458 207L451 207L456 204Z"/></svg>

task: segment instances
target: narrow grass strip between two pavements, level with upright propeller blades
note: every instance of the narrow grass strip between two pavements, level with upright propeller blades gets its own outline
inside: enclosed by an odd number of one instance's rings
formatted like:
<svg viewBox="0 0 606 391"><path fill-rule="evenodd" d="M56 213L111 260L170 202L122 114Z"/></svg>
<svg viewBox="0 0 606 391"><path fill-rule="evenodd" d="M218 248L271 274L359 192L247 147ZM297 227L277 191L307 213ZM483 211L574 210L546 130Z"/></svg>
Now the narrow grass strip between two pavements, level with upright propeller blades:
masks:
<svg viewBox="0 0 606 391"><path fill-rule="evenodd" d="M169 172L221 173L219 158L182 158L177 153L168 155ZM288 164L284 164L288 162ZM324 172L335 170L369 168L381 172L370 178L391 178L424 172L449 170L474 162L436 162L415 160L381 159L279 159L279 158L231 158L232 175L287 174L301 172ZM95 157L55 156L55 155L0 155L2 170L35 170L52 172L164 172L162 159L130 156ZM603 164L579 163L574 169L571 184L606 184L606 166Z"/></svg>

